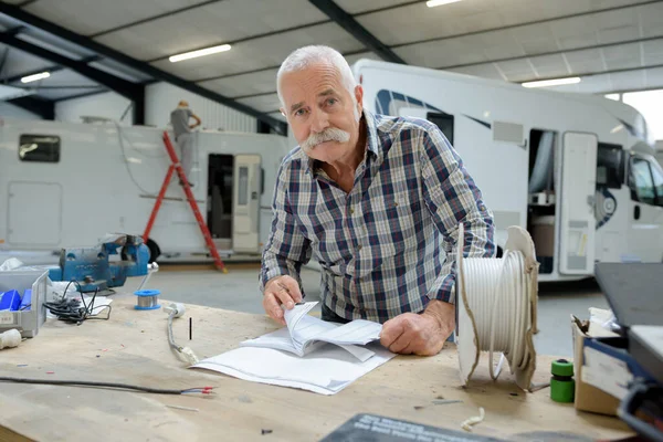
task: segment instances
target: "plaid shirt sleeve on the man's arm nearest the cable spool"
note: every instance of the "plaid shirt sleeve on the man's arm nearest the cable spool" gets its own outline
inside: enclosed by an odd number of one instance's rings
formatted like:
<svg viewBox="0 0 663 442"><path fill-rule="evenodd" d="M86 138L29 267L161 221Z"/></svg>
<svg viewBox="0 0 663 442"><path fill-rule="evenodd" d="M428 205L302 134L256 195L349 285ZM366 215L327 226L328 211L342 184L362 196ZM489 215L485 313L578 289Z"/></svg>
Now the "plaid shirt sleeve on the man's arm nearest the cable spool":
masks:
<svg viewBox="0 0 663 442"><path fill-rule="evenodd" d="M480 189L442 131L430 125L422 134L423 198L443 238L446 260L431 286L429 299L455 303L455 260L459 224L464 227L463 256L495 255L493 217Z"/></svg>

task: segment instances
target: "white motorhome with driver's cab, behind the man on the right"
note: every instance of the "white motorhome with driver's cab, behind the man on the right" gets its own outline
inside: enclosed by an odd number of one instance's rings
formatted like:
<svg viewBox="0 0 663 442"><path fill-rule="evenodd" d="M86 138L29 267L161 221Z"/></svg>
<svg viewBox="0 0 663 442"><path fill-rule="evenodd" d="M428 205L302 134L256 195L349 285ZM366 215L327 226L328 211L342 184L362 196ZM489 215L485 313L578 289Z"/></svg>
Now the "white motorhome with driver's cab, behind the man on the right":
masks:
<svg viewBox="0 0 663 442"><path fill-rule="evenodd" d="M532 233L540 281L662 261L663 171L632 107L385 62L352 70L369 110L442 129L494 212L497 245L509 225Z"/></svg>

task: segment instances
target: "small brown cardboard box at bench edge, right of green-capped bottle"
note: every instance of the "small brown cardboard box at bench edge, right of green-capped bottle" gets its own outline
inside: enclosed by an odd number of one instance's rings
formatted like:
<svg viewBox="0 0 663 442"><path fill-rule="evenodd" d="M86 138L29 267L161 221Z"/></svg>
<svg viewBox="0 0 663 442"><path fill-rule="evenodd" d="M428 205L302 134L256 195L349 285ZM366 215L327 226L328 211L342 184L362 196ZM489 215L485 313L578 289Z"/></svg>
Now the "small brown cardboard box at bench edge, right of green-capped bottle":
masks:
<svg viewBox="0 0 663 442"><path fill-rule="evenodd" d="M589 325L571 315L571 333L573 336L573 379L576 380L576 410L617 415L620 400L606 391L582 381L582 362L585 360L585 339Z"/></svg>

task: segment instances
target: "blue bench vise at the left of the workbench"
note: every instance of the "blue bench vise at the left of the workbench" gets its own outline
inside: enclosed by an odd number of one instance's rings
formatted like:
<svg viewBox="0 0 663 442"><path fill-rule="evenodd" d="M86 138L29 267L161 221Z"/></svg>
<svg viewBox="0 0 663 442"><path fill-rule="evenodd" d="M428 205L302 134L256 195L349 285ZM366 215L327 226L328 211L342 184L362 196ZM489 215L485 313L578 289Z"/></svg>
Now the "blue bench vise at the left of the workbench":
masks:
<svg viewBox="0 0 663 442"><path fill-rule="evenodd" d="M110 255L122 261L110 262ZM81 292L105 291L124 285L127 276L148 274L149 249L140 236L117 234L94 248L62 249L60 266L49 271L51 281L76 281Z"/></svg>

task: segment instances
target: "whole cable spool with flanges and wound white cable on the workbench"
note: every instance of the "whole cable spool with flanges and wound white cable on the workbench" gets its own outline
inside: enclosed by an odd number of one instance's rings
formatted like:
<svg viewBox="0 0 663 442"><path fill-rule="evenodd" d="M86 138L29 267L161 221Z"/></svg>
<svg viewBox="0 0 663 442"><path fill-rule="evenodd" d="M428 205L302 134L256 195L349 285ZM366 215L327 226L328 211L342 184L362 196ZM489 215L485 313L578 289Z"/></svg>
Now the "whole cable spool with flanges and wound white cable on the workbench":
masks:
<svg viewBox="0 0 663 442"><path fill-rule="evenodd" d="M529 233L509 227L502 259L463 257L464 231L457 241L456 344L461 382L466 385L481 351L490 352L490 373L497 379L504 359L516 383L529 389L536 368L533 335L536 333L538 263ZM497 368L493 352L502 352Z"/></svg>

